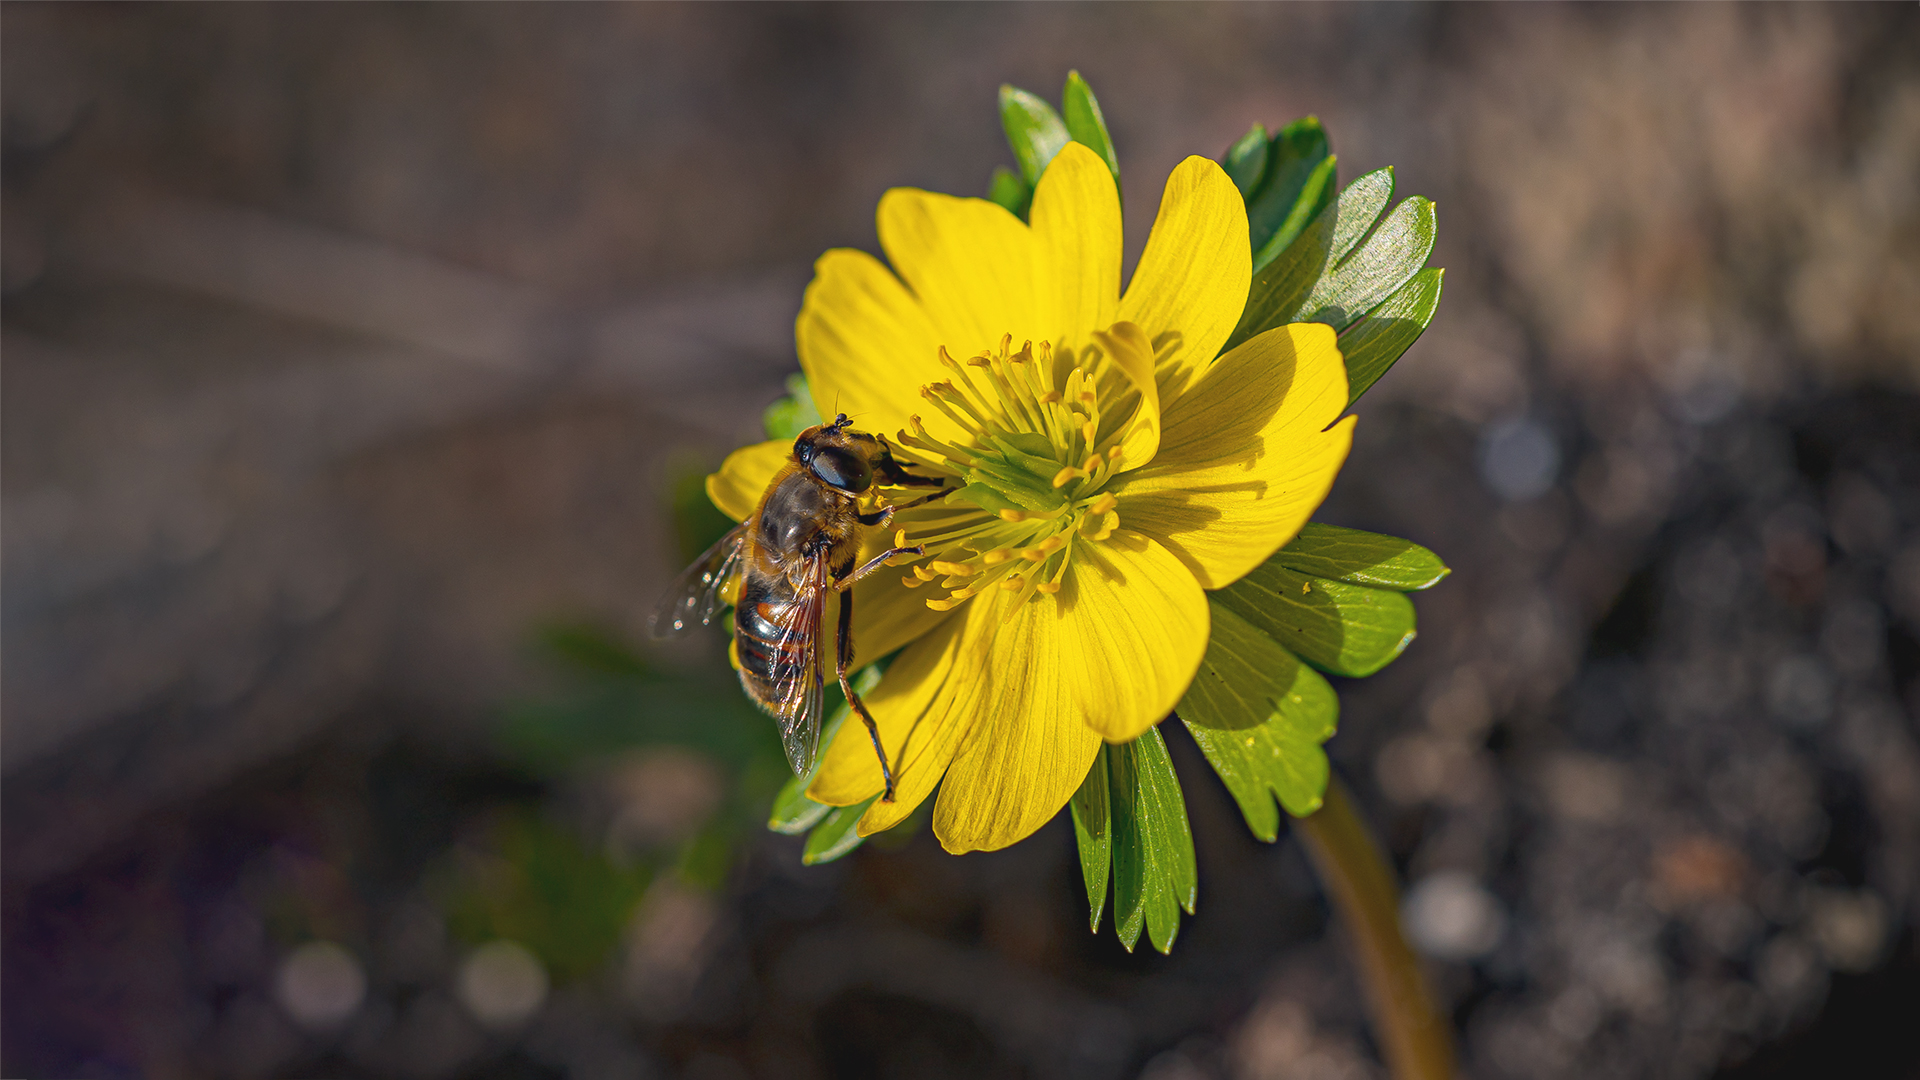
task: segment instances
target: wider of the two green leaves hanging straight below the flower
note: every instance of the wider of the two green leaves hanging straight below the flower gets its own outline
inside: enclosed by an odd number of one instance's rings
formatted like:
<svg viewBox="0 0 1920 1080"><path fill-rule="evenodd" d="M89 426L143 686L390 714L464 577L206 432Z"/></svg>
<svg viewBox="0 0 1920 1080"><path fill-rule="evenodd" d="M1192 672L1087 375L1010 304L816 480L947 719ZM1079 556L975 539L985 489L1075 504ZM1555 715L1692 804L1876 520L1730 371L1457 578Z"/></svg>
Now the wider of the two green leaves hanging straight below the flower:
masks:
<svg viewBox="0 0 1920 1080"><path fill-rule="evenodd" d="M1198 899L1187 801L1160 728L1106 748L1114 821L1114 930L1133 951L1144 924L1162 953L1173 949L1181 913Z"/></svg>

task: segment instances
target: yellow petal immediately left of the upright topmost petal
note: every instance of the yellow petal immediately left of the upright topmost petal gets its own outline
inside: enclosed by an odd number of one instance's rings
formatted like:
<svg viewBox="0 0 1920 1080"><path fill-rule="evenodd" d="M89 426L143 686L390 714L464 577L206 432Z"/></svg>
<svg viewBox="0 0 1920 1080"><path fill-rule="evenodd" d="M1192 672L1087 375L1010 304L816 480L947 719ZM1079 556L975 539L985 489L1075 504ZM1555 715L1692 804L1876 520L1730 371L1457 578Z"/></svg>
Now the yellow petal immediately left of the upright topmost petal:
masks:
<svg viewBox="0 0 1920 1080"><path fill-rule="evenodd" d="M1033 233L1000 206L893 188L879 198L879 246L914 290L939 344L958 359L996 348L1000 334L1014 334L1020 348L1050 323L1043 307L1052 304L1043 304L1035 279Z"/></svg>

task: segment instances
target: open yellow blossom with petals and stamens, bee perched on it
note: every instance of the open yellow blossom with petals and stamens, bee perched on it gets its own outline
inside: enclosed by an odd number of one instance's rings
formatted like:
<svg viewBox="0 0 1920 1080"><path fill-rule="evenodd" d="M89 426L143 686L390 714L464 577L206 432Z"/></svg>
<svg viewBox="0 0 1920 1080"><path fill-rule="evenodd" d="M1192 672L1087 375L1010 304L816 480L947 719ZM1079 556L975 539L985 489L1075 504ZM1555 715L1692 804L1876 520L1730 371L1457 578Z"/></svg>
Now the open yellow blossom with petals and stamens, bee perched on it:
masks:
<svg viewBox="0 0 1920 1080"><path fill-rule="evenodd" d="M1213 359L1252 273L1240 192L1213 161L1167 179L1125 294L1119 196L1091 150L1054 158L1031 221L895 188L879 242L899 277L828 252L795 327L822 409L952 488L895 517L927 557L854 588L854 644L862 661L906 646L866 698L899 794L860 832L939 786L933 830L954 853L1025 838L1100 740L1173 709L1206 651L1204 590L1300 530L1354 429L1334 423L1348 390L1329 327ZM743 519L787 452L735 452L708 479L714 503ZM808 796L856 805L879 790L866 730L845 724Z"/></svg>

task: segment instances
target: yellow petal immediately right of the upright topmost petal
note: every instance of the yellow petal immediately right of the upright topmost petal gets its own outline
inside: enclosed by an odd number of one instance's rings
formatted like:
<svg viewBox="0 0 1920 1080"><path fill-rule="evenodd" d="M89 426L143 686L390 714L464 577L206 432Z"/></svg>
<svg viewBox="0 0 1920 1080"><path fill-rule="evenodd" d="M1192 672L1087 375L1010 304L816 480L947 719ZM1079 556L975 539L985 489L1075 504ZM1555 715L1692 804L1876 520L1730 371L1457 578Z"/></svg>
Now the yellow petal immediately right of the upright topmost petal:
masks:
<svg viewBox="0 0 1920 1080"><path fill-rule="evenodd" d="M1181 161L1167 177L1154 234L1119 300L1119 317L1139 323L1154 342L1162 407L1227 344L1252 279L1240 188L1206 158Z"/></svg>

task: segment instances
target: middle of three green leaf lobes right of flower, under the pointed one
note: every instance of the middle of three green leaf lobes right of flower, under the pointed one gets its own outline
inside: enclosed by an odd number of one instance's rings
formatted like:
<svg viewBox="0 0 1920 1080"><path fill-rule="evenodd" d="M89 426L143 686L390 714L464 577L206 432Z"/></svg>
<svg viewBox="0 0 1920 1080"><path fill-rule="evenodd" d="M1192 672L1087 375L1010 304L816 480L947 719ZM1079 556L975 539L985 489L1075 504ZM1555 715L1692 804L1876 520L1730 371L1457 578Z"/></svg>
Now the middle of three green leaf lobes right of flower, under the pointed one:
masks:
<svg viewBox="0 0 1920 1080"><path fill-rule="evenodd" d="M1413 601L1405 596L1302 575L1277 559L1212 596L1332 675L1373 675L1413 640Z"/></svg>

